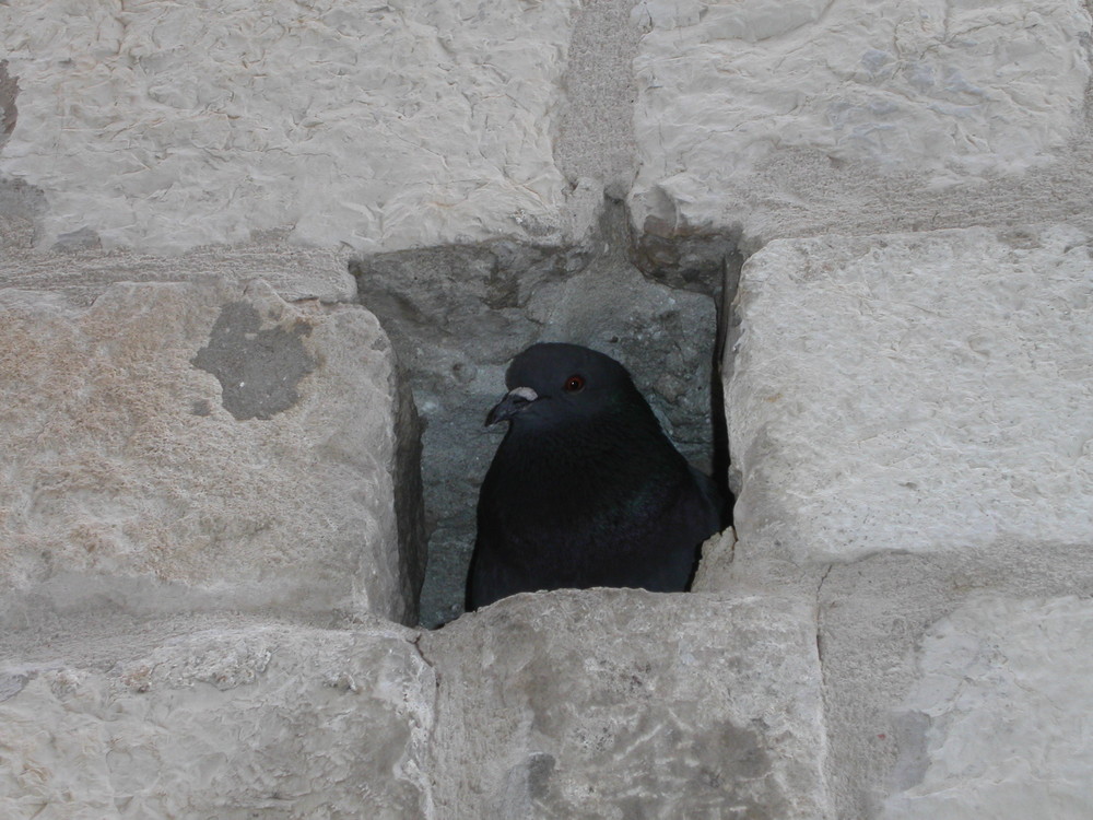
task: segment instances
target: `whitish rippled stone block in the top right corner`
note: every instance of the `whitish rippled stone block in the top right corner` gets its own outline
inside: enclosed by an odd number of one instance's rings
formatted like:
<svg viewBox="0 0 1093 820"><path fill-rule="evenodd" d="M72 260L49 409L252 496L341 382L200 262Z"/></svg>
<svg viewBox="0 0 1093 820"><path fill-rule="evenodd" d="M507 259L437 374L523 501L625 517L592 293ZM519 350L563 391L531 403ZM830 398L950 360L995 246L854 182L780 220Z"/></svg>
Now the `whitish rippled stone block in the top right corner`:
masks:
<svg viewBox="0 0 1093 820"><path fill-rule="evenodd" d="M638 227L753 249L1088 210L1081 0L643 0L633 22Z"/></svg>

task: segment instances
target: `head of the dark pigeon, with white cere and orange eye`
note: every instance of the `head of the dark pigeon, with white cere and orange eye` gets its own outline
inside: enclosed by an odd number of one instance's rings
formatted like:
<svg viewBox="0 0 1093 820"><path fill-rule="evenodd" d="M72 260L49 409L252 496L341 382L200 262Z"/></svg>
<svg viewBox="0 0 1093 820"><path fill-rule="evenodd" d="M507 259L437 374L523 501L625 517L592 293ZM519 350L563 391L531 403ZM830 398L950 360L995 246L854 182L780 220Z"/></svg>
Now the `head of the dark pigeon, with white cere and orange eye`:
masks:
<svg viewBox="0 0 1093 820"><path fill-rule="evenodd" d="M593 419L620 408L647 408L626 368L611 356L579 344L532 344L505 374L508 394L486 417L486 425L549 427Z"/></svg>

